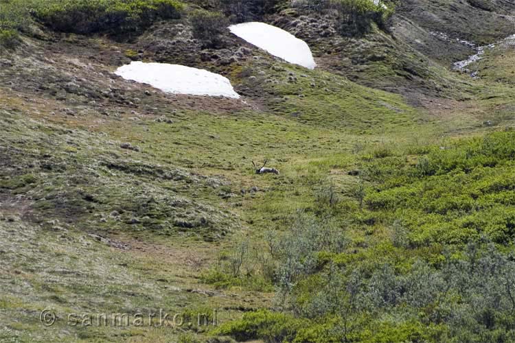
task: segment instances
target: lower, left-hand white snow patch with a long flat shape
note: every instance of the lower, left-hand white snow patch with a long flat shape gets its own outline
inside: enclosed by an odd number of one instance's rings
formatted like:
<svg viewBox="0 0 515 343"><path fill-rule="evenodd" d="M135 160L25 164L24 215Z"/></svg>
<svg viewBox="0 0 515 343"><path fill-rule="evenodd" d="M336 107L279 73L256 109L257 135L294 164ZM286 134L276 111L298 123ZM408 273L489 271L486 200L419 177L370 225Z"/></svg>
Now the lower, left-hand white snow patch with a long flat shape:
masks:
<svg viewBox="0 0 515 343"><path fill-rule="evenodd" d="M240 98L222 75L179 64L131 62L119 67L115 74L167 93Z"/></svg>

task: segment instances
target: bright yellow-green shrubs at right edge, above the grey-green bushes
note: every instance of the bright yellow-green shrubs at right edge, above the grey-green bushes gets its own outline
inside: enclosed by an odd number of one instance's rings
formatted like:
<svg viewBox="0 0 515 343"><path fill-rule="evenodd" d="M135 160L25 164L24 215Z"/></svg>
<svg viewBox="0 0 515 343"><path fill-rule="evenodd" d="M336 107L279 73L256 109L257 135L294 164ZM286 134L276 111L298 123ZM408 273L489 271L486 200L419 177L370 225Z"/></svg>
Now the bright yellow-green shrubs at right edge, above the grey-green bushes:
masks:
<svg viewBox="0 0 515 343"><path fill-rule="evenodd" d="M505 244L515 236L515 134L433 147L413 165L401 157L365 163L376 184L365 204L400 220L412 247L466 244L485 235Z"/></svg>

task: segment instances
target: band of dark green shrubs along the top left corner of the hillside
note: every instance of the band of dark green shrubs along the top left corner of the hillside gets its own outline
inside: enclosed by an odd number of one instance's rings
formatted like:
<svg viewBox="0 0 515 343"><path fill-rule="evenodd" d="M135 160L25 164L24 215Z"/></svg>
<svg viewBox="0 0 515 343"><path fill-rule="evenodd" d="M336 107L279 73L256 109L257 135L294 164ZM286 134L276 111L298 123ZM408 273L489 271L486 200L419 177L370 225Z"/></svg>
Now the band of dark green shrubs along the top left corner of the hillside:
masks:
<svg viewBox="0 0 515 343"><path fill-rule="evenodd" d="M182 8L176 0L0 0L0 43L27 32L31 19L61 32L131 34Z"/></svg>

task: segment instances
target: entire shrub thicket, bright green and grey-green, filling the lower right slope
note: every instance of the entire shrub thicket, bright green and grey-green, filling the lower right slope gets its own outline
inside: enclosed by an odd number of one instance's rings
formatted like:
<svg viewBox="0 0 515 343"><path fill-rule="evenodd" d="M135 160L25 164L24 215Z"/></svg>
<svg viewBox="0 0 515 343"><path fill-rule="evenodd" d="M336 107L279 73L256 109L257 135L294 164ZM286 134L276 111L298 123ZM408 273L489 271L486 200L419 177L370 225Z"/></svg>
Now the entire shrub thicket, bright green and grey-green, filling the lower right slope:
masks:
<svg viewBox="0 0 515 343"><path fill-rule="evenodd" d="M314 192L316 209L253 242L268 247L261 275L276 287L276 312L247 314L220 333L265 342L514 342L515 132L356 154L361 178L348 198L331 202L326 185ZM257 263L246 256L238 268ZM241 278L248 267L238 268Z"/></svg>

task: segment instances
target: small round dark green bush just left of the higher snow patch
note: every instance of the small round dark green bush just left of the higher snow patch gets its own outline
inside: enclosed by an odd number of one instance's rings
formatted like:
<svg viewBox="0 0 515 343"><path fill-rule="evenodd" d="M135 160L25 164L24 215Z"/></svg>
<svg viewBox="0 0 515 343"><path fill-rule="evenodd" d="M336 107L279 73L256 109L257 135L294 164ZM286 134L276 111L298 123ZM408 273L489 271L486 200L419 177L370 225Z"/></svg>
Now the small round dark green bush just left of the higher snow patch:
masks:
<svg viewBox="0 0 515 343"><path fill-rule="evenodd" d="M196 10L191 15L194 38L201 40L205 47L221 47L223 34L227 32L229 20L221 13Z"/></svg>

